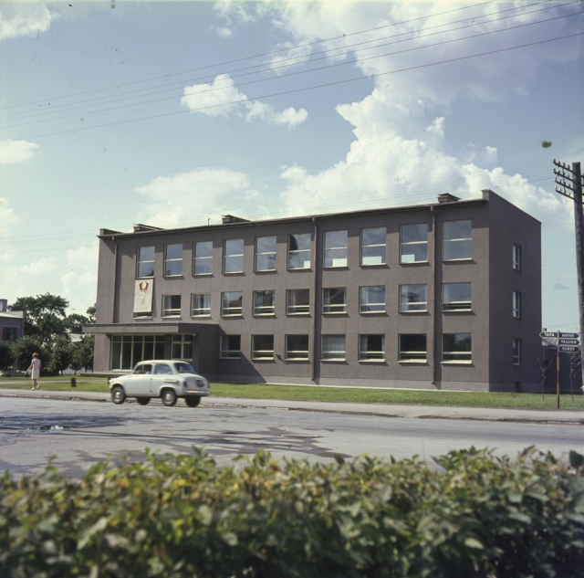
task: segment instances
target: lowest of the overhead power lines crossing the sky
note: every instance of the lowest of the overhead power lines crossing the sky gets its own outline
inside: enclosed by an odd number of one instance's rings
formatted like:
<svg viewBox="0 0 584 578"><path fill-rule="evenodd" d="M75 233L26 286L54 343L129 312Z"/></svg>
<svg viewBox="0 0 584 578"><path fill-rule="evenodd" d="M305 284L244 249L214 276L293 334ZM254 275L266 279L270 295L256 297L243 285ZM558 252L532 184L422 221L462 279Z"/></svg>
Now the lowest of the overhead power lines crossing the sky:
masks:
<svg viewBox="0 0 584 578"><path fill-rule="evenodd" d="M478 54L473 54L473 55L468 55L465 57L457 57L457 58L448 58L446 60L439 60L438 62L431 62L431 63L427 63L427 64L421 64L415 67L407 67L407 68L400 68L398 70L390 70L387 72L379 72L377 74L371 74L369 76L366 77L359 77L357 79L344 79L344 80L336 80L334 82L327 82L324 84L318 84L318 85L314 85L311 87L306 87L303 89L291 89L291 90L283 90L281 92L275 92L272 94L265 94L265 95L261 95L261 96L257 96L254 97L255 100L257 99L269 99L269 98L273 98L276 96L283 96L285 94L293 94L295 92L304 92L306 90L314 90L314 89L323 89L326 87L330 87L330 86L336 86L339 84L346 84L348 82L356 82L359 80L369 80L369 79L374 79L374 78L378 78L378 77L382 77L382 76L387 76L390 74L397 74L399 72L405 72L408 70L416 70L419 68L429 68L429 67L433 67L433 66L438 66L440 64L450 64L452 62L459 62L461 60L467 60L469 58L478 58L478 57L483 57L483 56L489 56L492 54L498 54L501 52L507 52L509 50L516 50L518 48L525 48L525 47L533 47L533 46L537 46L540 44L547 44L548 42L555 42L557 40L565 40L567 38L572 38L572 37L579 37L584 35L584 32L578 32L576 34L570 34L567 36L563 36L563 37L556 37L556 38L548 38L547 40L538 40L537 42L529 42L527 44L521 44L518 45L516 47L506 47L506 48L499 48L497 50L489 50L487 52L480 52ZM99 128L103 128L103 127L107 127L107 126L115 126L115 125L119 125L119 124L127 124L129 122L138 122L138 121L149 121L151 119L160 119L160 118L164 118L164 117L169 117L169 116L174 116L176 114L184 114L185 112L193 112L196 110L206 110L206 109L214 109L217 107L222 107L222 106L228 106L230 104L239 104L241 102L246 102L248 101L248 99L240 99L240 100L233 100L230 102L223 102L221 104L212 104L212 105L208 105L208 106L204 106L204 107L199 107L196 109L190 109L190 110L175 110L173 112L164 112L162 114L155 114L152 116L148 116L148 117L141 117L140 119L128 119L126 121L114 121L114 122L107 122L107 123L103 123L103 124L98 124L98 125L94 125L94 126L90 126L90 127L78 127L76 129L68 129L67 131L53 131L53 132L45 132L43 134L34 134L34 135L30 135L30 136L26 136L26 137L20 137L20 138L25 138L25 139L38 139L41 137L45 137L45 136L53 136L55 134L66 134L68 132L78 132L78 131L89 131L89 130L93 130L93 129L99 129Z"/></svg>

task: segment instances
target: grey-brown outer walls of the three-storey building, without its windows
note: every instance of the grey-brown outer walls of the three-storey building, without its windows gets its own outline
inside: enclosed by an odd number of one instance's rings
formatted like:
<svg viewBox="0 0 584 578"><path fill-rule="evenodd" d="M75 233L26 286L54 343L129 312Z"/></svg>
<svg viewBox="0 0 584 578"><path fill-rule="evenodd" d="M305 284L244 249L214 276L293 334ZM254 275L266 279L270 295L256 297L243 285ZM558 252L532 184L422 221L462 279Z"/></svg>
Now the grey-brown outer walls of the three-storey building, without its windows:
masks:
<svg viewBox="0 0 584 578"><path fill-rule="evenodd" d="M172 336L184 335L193 336L193 363L212 381L480 391L540 387L540 223L489 190L476 200L442 200L446 202L184 229L137 226L133 233L102 229L96 325L85 328L96 335L94 371L111 371L113 343L120 342L120 336L127 343L131 335L148 335L151 340L158 336L165 357L171 358ZM472 224L469 258L443 258L444 223L451 221ZM427 260L401 263L401 226L412 224L427 224ZM386 229L384 264L361 265L361 232L370 227ZM347 231L346 266L323 267L328 231ZM288 236L307 233L310 268L288 269ZM276 269L255 272L256 238L264 236L276 236ZM228 239L244 239L241 273L223 272ZM207 241L213 242L212 273L193 275L193 244ZM454 243L464 240L454 239ZM165 277L165 247L173 244L183 246L182 274ZM520 251L519 270L513 267L514 245ZM155 255L154 275L149 278L153 281L151 316L142 319L133 313L139 247L154 247ZM470 310L443 310L443 284L450 283L471 284ZM403 285L426 286L427 310L400 310ZM360 312L360 288L371 286L385 288L385 310ZM322 312L323 289L328 288L346 288L345 312ZM289 289L309 289L308 314L287 314ZM254 315L254 291L266 290L275 291L274 314ZM243 293L241 315L222 316L222 293L227 291ZM514 291L520 294L517 317ZM208 317L191 316L193 293L211 295ZM180 315L162 316L163 295L181 296ZM286 355L286 336L298 334L308 335L304 361L289 360ZM402 334L426 335L425 360L400 360ZM471 354L444 362L443 334L470 334ZM241 336L238 359L220 357L222 335ZM252 359L254 335L274 336L271 359ZM322 359L322 335L345 336L344 359ZM361 335L384 336L381 359L360 360ZM514 340L521 340L515 358Z"/></svg>

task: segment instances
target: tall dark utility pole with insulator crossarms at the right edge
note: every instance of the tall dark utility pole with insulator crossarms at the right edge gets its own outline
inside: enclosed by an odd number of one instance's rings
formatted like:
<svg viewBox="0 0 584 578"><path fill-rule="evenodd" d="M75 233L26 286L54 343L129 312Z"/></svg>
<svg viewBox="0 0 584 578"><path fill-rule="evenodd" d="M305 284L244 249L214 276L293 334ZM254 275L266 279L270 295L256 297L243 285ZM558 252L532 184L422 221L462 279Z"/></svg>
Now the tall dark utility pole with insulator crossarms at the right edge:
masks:
<svg viewBox="0 0 584 578"><path fill-rule="evenodd" d="M556 175L554 182L559 185L555 187L556 192L567 196L574 201L574 225L576 229L576 270L578 273L578 306L579 306L579 330L580 339L584 339L584 209L582 208L582 173L580 163L572 163L569 168L567 163L560 163L554 159ZM559 339L558 339L559 343ZM558 345L559 352L559 345ZM580 349L580 360L582 360L582 350ZM584 361L584 360L582 360ZM582 368L582 384L584 385L584 363ZM558 397L559 408L559 397Z"/></svg>

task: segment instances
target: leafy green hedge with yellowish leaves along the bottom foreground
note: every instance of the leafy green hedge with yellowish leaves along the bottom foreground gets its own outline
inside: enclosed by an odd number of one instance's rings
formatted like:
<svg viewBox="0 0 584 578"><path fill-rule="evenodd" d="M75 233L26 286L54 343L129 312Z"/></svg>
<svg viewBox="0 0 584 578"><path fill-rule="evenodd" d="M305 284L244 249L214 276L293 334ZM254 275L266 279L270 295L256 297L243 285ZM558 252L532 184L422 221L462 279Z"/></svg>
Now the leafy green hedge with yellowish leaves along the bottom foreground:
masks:
<svg viewBox="0 0 584 578"><path fill-rule="evenodd" d="M584 468L533 449L416 460L194 457L0 480L0 576L575 577ZM242 458L243 459L243 458ZM243 466L243 467L242 467Z"/></svg>

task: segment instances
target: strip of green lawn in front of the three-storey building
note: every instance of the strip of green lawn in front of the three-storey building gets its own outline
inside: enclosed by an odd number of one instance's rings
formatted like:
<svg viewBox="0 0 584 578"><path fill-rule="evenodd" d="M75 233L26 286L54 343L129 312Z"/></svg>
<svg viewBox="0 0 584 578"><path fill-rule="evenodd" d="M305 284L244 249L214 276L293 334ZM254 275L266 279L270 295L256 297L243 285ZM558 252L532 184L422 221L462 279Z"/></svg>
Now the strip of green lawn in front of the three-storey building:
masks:
<svg viewBox="0 0 584 578"><path fill-rule="evenodd" d="M0 388L29 389L28 378L6 378ZM57 381L64 383L55 383ZM14 382L18 382L14 384ZM41 390L107 392L108 382L103 377L77 378L77 388L69 385L69 378L43 378ZM498 394L471 392L437 392L360 389L352 387L303 387L299 385L270 384L211 384L211 392L218 397L248 397L253 399L286 399L296 401L348 402L367 404L462 405L474 407L510 407L523 409L555 409L556 395ZM562 409L584 410L584 395L562 395Z"/></svg>

